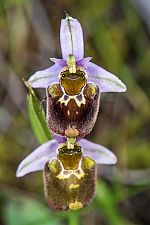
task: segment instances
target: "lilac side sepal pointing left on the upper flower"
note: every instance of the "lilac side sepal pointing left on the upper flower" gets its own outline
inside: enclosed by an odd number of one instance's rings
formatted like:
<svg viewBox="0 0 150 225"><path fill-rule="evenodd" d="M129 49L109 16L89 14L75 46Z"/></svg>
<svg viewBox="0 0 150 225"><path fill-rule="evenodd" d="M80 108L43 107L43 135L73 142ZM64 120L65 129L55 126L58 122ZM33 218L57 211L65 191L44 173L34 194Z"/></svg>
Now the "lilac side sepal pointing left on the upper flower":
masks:
<svg viewBox="0 0 150 225"><path fill-rule="evenodd" d="M62 67L53 65L45 70L41 70L33 74L28 82L33 88L47 88L51 83L58 82L58 76Z"/></svg>

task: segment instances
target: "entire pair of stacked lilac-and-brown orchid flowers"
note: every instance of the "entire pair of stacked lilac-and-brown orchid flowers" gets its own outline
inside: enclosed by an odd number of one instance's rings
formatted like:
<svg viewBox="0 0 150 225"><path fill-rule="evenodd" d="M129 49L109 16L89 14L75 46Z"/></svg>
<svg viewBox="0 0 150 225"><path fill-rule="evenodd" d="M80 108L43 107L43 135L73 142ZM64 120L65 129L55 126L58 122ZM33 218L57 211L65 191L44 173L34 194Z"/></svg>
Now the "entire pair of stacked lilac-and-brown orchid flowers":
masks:
<svg viewBox="0 0 150 225"><path fill-rule="evenodd" d="M28 84L45 88L47 126L53 139L39 146L19 165L17 177L44 171L45 197L54 210L77 210L95 193L96 164L115 164L116 156L102 145L84 139L96 122L100 94L125 92L112 73L84 58L83 32L78 20L61 21L62 59L33 74Z"/></svg>

